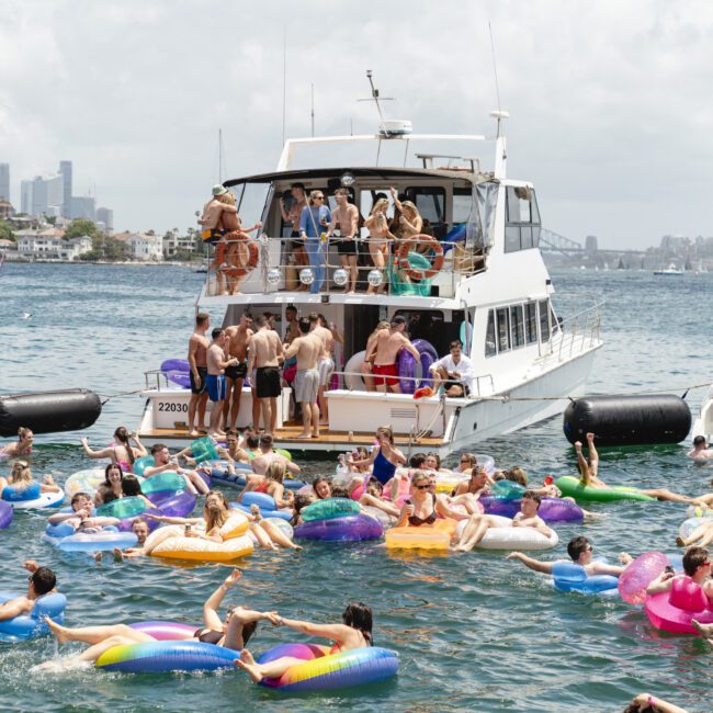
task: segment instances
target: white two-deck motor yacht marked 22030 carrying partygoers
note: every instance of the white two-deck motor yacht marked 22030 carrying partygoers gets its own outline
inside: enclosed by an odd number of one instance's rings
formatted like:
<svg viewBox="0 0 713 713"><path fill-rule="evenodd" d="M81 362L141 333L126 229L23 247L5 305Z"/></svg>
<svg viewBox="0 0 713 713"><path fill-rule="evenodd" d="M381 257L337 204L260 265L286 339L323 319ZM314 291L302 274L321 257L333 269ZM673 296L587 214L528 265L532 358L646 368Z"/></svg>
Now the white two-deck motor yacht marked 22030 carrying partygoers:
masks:
<svg viewBox="0 0 713 713"><path fill-rule="evenodd" d="M263 224L262 235L251 247L257 264L241 283L241 294L226 295L216 274L222 265L214 261L196 310L219 310L224 326L236 324L245 310L253 316L270 312L276 315L275 328L282 335L285 307L294 305L301 315L321 313L343 335L335 355L336 377L327 393L328 427L319 439L296 440L301 425L294 421L291 389L285 387L274 433L281 446L344 451L371 445L375 427L391 425L401 448L446 455L562 412L567 397L584 393L602 344L600 305L564 319L557 316L552 304L554 287L539 250L536 193L529 181L507 177L502 131L507 113L491 115L497 136L490 139L415 134L405 121L382 121L373 135L290 139L274 171L224 183L236 195L242 224L258 218ZM483 152L487 160L493 145L495 162L482 168L482 159L474 156ZM457 147L457 152L449 147ZM303 152L318 157L305 160ZM293 183L302 183L307 193L319 189L332 207L333 191L348 188L362 217L380 194L388 197L395 186L418 206L439 246L426 256L408 253L407 259L420 260L421 267L425 259L438 263L443 250L442 265L420 282L406 282L392 269L375 270L362 228L354 294L344 291L347 275L336 244L328 246L324 291L298 290L301 283L312 283L315 274L312 268L295 264L288 237L292 226L280 211L280 199L290 200ZM387 265L393 262L392 252L399 250L389 246ZM369 284L382 293L367 294ZM360 371L366 340L380 320L397 315L406 318L410 337L420 340L423 353L432 354L429 342L443 356L452 340L462 339L475 370L467 397L435 394L415 399L412 392L422 383L418 364L415 374L400 380L404 391L411 393L367 391ZM172 446L190 442L188 389L154 371L146 374L143 396L142 440ZM250 415L251 389L246 386L239 428L250 422Z"/></svg>

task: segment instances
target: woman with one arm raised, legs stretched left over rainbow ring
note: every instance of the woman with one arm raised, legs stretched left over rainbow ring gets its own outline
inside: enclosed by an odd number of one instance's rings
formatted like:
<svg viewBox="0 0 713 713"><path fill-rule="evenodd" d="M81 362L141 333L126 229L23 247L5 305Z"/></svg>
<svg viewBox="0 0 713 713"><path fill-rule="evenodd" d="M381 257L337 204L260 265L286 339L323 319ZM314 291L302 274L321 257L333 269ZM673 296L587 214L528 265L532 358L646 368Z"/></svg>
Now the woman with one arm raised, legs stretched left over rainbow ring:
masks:
<svg viewBox="0 0 713 713"><path fill-rule="evenodd" d="M240 650L254 633L259 621L274 621L278 615L276 612L254 611L241 604L229 607L226 618L220 618L218 609L223 598L241 576L242 573L239 569L234 569L230 576L207 598L205 604L203 604L203 627L197 629L192 638ZM65 664L67 667L78 664L93 664L112 646L156 642L152 636L126 624L69 629L60 626L49 618L46 618L45 621L59 644L67 642L91 644L81 654L68 659Z"/></svg>

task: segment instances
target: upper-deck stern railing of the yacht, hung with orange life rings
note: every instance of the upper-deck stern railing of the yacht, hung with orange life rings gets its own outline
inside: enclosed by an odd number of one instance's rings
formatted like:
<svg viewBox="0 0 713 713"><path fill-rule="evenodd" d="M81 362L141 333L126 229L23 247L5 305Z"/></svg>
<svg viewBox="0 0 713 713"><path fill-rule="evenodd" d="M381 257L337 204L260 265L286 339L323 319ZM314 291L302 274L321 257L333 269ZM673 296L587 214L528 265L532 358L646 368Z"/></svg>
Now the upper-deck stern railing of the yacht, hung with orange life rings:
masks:
<svg viewBox="0 0 713 713"><path fill-rule="evenodd" d="M217 249L220 242L225 247ZM305 242L312 252L313 264L309 264L309 256L298 249ZM442 265L434 274L419 280L417 278L423 275L423 271L430 271L437 261L429 241L416 241L415 249L409 251L410 275L406 265L398 264L404 241L376 244L373 239L356 239L353 242L356 249L355 292L360 294L453 297L463 279L485 270L482 249L469 250L462 244L439 242L443 248ZM350 291L350 268L349 264L342 265L343 256L339 252L342 244L340 237L302 241L267 235L249 240L218 241L210 250L206 295L309 291L320 278L324 278L322 294L344 294ZM228 246L230 254L226 259ZM216 251L223 253L219 264ZM375 264L382 261L383 265Z"/></svg>

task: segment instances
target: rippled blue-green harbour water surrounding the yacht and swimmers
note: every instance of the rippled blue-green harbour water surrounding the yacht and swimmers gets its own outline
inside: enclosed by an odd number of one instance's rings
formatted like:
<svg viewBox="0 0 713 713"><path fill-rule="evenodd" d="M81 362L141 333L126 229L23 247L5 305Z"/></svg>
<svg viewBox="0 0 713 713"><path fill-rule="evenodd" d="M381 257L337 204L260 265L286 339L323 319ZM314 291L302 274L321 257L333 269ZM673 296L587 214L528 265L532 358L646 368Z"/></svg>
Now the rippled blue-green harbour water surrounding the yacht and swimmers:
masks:
<svg viewBox="0 0 713 713"><path fill-rule="evenodd" d="M143 373L182 358L204 275L172 267L4 264L0 270L0 392L87 387L104 397L139 389ZM711 378L713 340L701 314L713 274L657 278L634 271L555 271L555 308L563 317L606 299L603 337L589 393L666 389L682 394ZM703 301L704 303L704 301ZM23 319L22 313L32 318ZM216 320L222 315L213 315ZM693 411L706 389L692 389ZM113 430L136 428L139 396L110 398L82 433L38 437L37 476L59 483L94 465L81 435L101 446ZM600 475L612 484L711 490L713 468L684 457L688 443L603 453ZM573 449L555 418L474 448L500 466L523 466L532 483L574 472ZM308 476L333 462L305 461ZM453 460L453 462L455 459ZM8 471L0 463L0 473ZM595 554L672 552L684 519L675 503L595 505L595 524L557 528L565 543L586 534ZM218 565L177 566L146 558L101 565L61 554L41 540L46 513L19 512L0 531L0 591L23 591L22 562L53 567L69 597L68 625L170 619L200 622L207 595L227 576ZM643 611L621 600L554 591L546 578L502 554L395 555L377 544L309 544L301 553L258 552L240 562L244 578L226 601L318 622L340 620L351 600L374 610L374 640L396 649L400 671L391 682L343 693L281 694L253 686L239 671L220 675L35 674L57 656L52 638L0 646L2 711L619 711L649 691L690 711L710 711L712 649L700 638L661 635ZM298 641L288 630L261 626L260 652ZM64 645L61 654L79 650Z"/></svg>

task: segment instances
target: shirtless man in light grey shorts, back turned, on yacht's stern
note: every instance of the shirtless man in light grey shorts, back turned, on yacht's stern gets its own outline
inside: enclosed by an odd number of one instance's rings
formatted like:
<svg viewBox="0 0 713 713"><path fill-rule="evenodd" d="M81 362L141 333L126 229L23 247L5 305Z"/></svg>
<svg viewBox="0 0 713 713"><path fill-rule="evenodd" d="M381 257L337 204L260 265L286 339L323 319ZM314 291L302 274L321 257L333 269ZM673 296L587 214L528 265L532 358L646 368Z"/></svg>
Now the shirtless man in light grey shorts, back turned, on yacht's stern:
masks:
<svg viewBox="0 0 713 713"><path fill-rule="evenodd" d="M302 405L302 433L295 438L319 438L319 370L317 361L324 344L315 331L310 331L309 317L299 320L299 337L285 344L285 359L297 356L295 399Z"/></svg>

